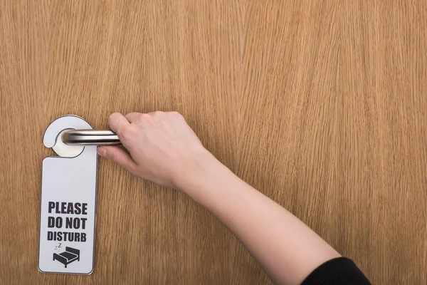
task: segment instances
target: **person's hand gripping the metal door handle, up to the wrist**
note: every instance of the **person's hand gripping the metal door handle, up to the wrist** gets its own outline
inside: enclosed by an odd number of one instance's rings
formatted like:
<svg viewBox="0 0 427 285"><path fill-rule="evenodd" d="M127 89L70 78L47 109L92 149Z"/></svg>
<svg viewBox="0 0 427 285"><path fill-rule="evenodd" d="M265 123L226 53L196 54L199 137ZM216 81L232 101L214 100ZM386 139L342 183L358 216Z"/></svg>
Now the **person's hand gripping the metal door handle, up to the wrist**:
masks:
<svg viewBox="0 0 427 285"><path fill-rule="evenodd" d="M179 188L202 161L213 158L177 112L113 113L108 125L129 153L105 146L98 154L159 185Z"/></svg>

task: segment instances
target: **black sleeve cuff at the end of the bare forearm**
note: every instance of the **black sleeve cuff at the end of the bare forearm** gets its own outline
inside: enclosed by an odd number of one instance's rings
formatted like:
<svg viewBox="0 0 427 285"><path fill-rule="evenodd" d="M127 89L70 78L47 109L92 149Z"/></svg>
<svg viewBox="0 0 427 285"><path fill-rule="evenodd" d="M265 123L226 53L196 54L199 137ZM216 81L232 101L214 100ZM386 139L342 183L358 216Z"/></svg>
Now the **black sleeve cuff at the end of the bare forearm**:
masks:
<svg viewBox="0 0 427 285"><path fill-rule="evenodd" d="M338 257L317 267L302 281L301 285L320 284L370 285L371 283L351 259Z"/></svg>

